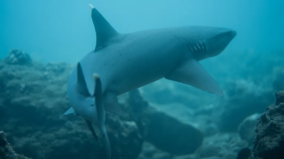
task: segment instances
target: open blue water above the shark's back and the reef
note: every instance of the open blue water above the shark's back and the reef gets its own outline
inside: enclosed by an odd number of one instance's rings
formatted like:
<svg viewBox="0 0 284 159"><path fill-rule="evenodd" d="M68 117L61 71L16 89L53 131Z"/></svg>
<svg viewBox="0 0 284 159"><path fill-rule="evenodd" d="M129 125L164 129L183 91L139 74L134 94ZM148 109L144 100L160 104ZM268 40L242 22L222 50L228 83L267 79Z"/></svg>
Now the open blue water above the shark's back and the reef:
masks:
<svg viewBox="0 0 284 159"><path fill-rule="evenodd" d="M282 0L2 0L0 58L11 48L43 62L78 62L95 48L92 4L120 33L182 25L229 27L238 34L222 54L283 49ZM223 55L225 56L225 55Z"/></svg>

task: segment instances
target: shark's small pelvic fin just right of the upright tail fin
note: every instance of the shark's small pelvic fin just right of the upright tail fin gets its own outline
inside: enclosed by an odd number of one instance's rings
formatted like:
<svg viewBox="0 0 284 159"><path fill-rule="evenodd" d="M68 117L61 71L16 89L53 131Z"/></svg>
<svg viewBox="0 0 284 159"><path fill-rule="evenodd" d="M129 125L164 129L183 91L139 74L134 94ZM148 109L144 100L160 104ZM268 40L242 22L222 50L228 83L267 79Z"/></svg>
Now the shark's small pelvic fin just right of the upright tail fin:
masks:
<svg viewBox="0 0 284 159"><path fill-rule="evenodd" d="M104 96L104 110L118 115L124 115L121 106L117 101L117 96L112 93L106 93Z"/></svg>

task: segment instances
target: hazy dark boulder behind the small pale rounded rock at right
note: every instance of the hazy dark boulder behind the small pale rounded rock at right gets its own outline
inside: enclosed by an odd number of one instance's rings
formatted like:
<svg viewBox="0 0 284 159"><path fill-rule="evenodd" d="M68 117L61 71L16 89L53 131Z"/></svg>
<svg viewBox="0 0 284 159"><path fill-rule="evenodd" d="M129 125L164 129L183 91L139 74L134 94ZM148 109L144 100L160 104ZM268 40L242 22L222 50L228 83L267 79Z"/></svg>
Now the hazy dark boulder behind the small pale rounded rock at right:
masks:
<svg viewBox="0 0 284 159"><path fill-rule="evenodd" d="M216 109L220 132L237 132L238 125L249 115L262 113L273 102L270 90L248 80L233 80L227 84L227 93L220 109Z"/></svg>

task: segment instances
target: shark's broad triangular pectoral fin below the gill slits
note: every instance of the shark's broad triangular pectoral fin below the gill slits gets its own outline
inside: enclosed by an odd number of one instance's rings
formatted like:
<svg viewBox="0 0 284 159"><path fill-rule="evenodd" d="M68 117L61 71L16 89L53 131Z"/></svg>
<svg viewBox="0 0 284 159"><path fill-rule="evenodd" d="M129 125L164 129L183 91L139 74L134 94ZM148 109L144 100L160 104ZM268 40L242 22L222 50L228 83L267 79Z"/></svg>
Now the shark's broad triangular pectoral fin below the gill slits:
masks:
<svg viewBox="0 0 284 159"><path fill-rule="evenodd" d="M224 95L217 82L195 59L184 62L167 74L165 78L182 82L216 95Z"/></svg>

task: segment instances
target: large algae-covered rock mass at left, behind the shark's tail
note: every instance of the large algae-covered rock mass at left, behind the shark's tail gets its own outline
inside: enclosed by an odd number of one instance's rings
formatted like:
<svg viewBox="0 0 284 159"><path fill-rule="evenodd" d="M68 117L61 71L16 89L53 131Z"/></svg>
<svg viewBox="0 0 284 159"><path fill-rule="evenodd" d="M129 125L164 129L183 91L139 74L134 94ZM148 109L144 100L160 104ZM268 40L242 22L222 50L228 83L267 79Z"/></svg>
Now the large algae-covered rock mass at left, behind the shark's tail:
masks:
<svg viewBox="0 0 284 159"><path fill-rule="evenodd" d="M16 152L41 159L104 158L104 142L93 138L83 118L62 116L71 107L66 85L72 65L0 65L0 127ZM106 129L113 158L137 158L143 140L135 122L107 113Z"/></svg>

